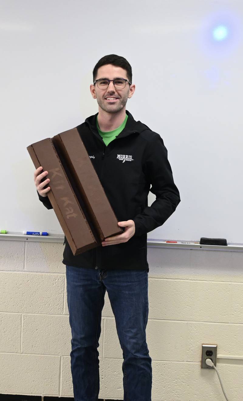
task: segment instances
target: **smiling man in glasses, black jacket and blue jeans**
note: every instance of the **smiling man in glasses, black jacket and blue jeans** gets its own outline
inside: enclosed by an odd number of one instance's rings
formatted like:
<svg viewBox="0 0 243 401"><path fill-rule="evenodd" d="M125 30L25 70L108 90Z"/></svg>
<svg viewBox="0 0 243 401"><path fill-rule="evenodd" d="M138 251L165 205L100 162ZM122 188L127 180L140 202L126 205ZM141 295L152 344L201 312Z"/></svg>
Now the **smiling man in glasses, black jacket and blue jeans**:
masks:
<svg viewBox="0 0 243 401"><path fill-rule="evenodd" d="M124 57L102 57L93 70L93 99L98 113L77 126L99 180L124 233L73 256L65 240L67 302L72 332L71 373L75 401L97 401L99 336L107 290L124 362L124 401L150 401L151 358L146 343L148 321L147 233L174 212L180 196L167 150L159 134L126 110L135 91L132 68ZM34 172L39 199L47 198L49 179ZM150 189L150 185L152 188ZM156 200L148 207L148 193ZM112 379L112 378L111 378Z"/></svg>

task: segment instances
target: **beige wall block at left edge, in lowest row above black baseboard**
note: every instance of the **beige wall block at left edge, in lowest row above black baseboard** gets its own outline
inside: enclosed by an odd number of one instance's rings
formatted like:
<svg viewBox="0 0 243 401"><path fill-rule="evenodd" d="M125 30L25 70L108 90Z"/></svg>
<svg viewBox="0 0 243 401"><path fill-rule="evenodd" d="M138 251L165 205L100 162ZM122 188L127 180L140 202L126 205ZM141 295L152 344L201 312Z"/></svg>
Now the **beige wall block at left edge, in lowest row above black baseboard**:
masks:
<svg viewBox="0 0 243 401"><path fill-rule="evenodd" d="M60 356L0 354L0 393L58 395Z"/></svg>

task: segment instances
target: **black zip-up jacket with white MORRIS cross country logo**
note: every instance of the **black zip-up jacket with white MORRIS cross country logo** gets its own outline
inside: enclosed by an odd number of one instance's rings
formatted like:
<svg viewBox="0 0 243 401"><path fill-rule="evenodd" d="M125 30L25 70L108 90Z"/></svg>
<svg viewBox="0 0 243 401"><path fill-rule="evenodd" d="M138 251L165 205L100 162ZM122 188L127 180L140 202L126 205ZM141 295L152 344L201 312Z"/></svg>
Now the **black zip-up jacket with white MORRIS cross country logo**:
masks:
<svg viewBox="0 0 243 401"><path fill-rule="evenodd" d="M65 265L149 271L147 233L161 226L180 202L162 138L135 121L128 110L126 113L124 130L108 146L97 131L98 113L88 117L77 130L118 221L133 220L135 234L125 243L100 245L76 256L65 239ZM156 195L150 207L149 191ZM38 196L47 209L52 209L47 196Z"/></svg>

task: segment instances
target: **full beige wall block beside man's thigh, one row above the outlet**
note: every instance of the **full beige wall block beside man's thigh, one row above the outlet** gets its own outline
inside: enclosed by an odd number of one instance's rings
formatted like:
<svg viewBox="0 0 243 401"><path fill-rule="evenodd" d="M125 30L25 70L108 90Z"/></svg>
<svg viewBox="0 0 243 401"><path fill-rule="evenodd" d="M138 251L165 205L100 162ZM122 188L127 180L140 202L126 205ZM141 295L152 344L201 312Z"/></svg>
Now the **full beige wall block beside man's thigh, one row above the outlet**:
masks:
<svg viewBox="0 0 243 401"><path fill-rule="evenodd" d="M229 321L230 284L151 278L149 292L150 319Z"/></svg>

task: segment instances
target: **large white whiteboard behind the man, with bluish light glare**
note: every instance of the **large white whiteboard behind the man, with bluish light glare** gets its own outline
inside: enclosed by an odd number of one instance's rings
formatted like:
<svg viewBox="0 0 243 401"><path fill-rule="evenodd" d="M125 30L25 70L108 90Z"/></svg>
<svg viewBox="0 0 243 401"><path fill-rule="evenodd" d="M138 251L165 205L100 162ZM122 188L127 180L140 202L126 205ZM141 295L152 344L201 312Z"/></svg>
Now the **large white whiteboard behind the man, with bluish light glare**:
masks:
<svg viewBox="0 0 243 401"><path fill-rule="evenodd" d="M163 138L181 196L148 238L243 243L242 26L233 0L2 0L0 229L63 233L38 201L26 147L97 113L93 67L114 53L132 66L126 108Z"/></svg>

